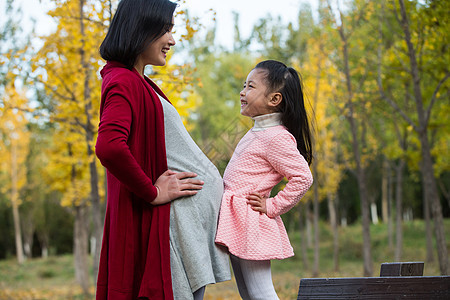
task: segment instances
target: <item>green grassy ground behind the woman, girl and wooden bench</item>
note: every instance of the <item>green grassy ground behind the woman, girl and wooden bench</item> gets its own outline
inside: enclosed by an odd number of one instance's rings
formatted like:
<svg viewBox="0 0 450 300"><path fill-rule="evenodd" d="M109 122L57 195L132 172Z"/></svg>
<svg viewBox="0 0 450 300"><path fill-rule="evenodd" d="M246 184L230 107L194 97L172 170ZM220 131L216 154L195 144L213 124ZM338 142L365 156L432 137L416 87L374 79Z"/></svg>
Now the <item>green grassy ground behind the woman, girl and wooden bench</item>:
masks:
<svg viewBox="0 0 450 300"><path fill-rule="evenodd" d="M447 248L450 253L450 219L445 220ZM423 221L403 225L402 261L425 261L425 226ZM280 299L296 299L300 278L312 277L314 251L307 251L309 268L302 263L300 233L290 234L296 255L272 262L273 281ZM327 224L320 224L320 267L319 277L361 277L362 236L361 226L354 225L339 229L339 271L333 270L333 237ZM371 226L373 275L378 276L383 262L394 261L394 249L388 245L387 226ZM395 239L394 239L395 243ZM424 275L439 275L437 253L434 262L425 262ZM91 289L94 295L94 287ZM0 299L93 299L84 297L74 278L73 256L55 256L47 259L30 259L23 265L15 260L0 261ZM208 286L205 299L240 299L234 280Z"/></svg>

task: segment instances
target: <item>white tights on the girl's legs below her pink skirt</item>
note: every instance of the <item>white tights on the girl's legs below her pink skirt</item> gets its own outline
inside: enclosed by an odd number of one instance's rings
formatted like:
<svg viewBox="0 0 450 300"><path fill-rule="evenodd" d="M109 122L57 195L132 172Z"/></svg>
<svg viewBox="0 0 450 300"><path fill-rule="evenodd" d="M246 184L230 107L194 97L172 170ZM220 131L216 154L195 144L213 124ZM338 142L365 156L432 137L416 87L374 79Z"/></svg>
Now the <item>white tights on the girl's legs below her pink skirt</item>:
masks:
<svg viewBox="0 0 450 300"><path fill-rule="evenodd" d="M239 294L244 300L279 300L272 282L270 260L246 260L230 254Z"/></svg>

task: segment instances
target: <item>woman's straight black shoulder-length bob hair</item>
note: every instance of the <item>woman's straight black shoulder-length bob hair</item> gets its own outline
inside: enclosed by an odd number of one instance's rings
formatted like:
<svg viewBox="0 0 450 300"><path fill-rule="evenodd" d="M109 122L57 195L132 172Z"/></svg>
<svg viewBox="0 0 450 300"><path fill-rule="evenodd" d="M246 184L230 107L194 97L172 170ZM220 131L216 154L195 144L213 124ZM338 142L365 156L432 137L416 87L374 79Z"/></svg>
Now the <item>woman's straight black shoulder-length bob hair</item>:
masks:
<svg viewBox="0 0 450 300"><path fill-rule="evenodd" d="M121 0L100 45L100 55L132 69L154 40L171 30L177 4L169 0Z"/></svg>

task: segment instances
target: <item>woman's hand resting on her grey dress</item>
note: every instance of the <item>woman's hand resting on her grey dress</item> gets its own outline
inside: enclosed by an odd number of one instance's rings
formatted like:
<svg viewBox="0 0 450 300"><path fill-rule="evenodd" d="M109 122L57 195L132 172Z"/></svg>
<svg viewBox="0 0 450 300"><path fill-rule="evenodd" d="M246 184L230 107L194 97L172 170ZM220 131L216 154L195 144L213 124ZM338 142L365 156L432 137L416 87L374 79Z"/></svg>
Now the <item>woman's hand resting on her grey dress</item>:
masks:
<svg viewBox="0 0 450 300"><path fill-rule="evenodd" d="M193 177L197 177L197 174L167 170L155 182L158 196L152 201L152 204L165 204L180 197L197 194L198 190L202 189L204 182L193 179Z"/></svg>

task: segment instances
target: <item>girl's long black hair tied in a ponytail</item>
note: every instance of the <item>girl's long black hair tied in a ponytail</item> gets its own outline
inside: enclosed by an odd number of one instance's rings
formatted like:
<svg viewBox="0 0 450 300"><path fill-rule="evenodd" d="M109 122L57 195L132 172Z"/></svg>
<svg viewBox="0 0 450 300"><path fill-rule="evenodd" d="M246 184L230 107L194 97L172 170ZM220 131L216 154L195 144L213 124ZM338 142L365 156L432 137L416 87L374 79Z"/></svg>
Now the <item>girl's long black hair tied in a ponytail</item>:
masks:
<svg viewBox="0 0 450 300"><path fill-rule="evenodd" d="M256 65L255 69L266 72L268 93L278 92L282 95L282 101L278 105L281 123L295 137L298 150L308 164L311 164L311 131L299 74L294 68L275 60L262 61Z"/></svg>

